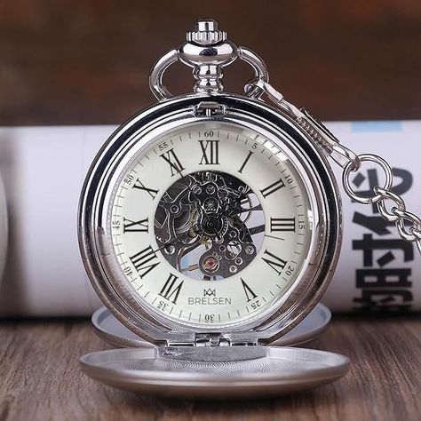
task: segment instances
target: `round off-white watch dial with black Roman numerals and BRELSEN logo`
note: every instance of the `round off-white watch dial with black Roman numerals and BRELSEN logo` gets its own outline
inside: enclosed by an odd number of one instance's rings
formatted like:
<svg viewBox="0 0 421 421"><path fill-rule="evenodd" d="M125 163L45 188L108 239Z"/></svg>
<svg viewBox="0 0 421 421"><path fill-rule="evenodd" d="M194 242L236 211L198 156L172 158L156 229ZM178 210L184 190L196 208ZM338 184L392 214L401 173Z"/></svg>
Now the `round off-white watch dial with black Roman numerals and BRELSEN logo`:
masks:
<svg viewBox="0 0 421 421"><path fill-rule="evenodd" d="M226 122L167 131L115 185L115 264L152 312L192 326L250 321L282 302L306 268L307 184L257 131Z"/></svg>

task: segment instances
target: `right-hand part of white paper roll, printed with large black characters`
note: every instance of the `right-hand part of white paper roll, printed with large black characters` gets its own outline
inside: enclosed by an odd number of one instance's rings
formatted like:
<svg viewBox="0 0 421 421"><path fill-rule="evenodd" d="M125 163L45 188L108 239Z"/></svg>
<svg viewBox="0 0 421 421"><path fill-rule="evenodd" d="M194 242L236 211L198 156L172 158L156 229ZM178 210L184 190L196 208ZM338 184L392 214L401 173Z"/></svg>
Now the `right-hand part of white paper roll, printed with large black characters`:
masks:
<svg viewBox="0 0 421 421"><path fill-rule="evenodd" d="M408 211L421 215L421 121L329 123L338 139L358 154L380 155L393 167L393 191ZM342 171L332 165L339 184ZM363 194L385 175L362 164L351 186ZM334 312L406 312L421 310L421 256L417 246L401 240L376 205L353 202L341 187L344 240L338 268L324 303ZM393 203L387 203L393 206Z"/></svg>

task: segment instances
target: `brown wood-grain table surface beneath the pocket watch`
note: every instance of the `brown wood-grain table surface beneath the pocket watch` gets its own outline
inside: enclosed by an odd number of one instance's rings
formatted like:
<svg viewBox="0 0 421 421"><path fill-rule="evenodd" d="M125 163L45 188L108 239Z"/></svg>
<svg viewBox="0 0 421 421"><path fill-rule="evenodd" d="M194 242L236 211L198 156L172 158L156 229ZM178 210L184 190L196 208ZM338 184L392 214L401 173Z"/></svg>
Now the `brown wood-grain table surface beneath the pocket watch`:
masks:
<svg viewBox="0 0 421 421"><path fill-rule="evenodd" d="M106 349L85 320L0 323L0 420L419 421L419 317L334 317L307 345L352 360L333 385L247 401L183 401L118 391L85 377L83 353Z"/></svg>

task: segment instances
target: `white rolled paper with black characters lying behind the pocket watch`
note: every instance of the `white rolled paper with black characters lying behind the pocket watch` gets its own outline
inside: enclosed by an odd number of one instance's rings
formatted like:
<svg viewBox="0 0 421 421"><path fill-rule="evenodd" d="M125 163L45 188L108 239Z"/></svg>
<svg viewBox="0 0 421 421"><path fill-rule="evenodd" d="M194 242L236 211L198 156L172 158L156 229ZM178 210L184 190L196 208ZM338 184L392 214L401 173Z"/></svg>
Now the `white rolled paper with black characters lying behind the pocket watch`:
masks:
<svg viewBox="0 0 421 421"><path fill-rule="evenodd" d="M421 121L329 123L329 127L357 153L384 156L393 166L395 191L403 195L409 211L421 214ZM79 256L76 214L91 160L114 129L0 129L0 172L9 222L1 316L88 315L100 305ZM340 168L331 164L340 180ZM364 164L352 174L351 184L363 192L377 181L383 182L381 170ZM403 242L375 207L342 196L344 242L324 303L336 312L421 310L417 248ZM5 223L2 215L0 226Z"/></svg>

